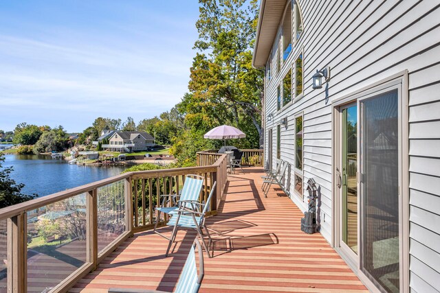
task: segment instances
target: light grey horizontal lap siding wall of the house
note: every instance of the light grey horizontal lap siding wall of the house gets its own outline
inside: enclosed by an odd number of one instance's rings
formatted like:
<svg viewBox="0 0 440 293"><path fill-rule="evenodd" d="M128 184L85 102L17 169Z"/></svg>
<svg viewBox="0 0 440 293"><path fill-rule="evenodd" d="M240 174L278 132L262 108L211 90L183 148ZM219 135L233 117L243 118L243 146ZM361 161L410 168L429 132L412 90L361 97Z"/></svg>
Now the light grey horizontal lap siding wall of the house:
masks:
<svg viewBox="0 0 440 293"><path fill-rule="evenodd" d="M276 126L281 126L281 159L295 163L294 117L303 113L303 188L309 178L320 187L321 233L333 243L332 104L380 80L408 71L410 290L440 291L440 8L437 1L298 1L304 32L276 72L279 36L274 40L271 75L265 78L265 150L272 128L272 168ZM303 97L277 110L277 87L303 53ZM331 67L328 83L311 88L317 69ZM267 117L273 115L273 118ZM405 123L405 121L404 121ZM265 162L268 161L265 152ZM269 167L269 166L267 166ZM294 183L294 172L290 172ZM290 197L305 211L304 198Z"/></svg>

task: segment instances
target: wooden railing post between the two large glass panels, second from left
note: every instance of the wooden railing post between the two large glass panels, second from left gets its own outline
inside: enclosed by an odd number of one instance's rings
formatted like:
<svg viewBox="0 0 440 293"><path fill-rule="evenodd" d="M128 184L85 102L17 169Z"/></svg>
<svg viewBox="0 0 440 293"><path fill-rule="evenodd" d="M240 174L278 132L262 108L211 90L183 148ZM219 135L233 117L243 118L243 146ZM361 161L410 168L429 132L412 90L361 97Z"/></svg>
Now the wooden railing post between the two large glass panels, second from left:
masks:
<svg viewBox="0 0 440 293"><path fill-rule="evenodd" d="M98 189L87 192L87 262L98 267Z"/></svg>

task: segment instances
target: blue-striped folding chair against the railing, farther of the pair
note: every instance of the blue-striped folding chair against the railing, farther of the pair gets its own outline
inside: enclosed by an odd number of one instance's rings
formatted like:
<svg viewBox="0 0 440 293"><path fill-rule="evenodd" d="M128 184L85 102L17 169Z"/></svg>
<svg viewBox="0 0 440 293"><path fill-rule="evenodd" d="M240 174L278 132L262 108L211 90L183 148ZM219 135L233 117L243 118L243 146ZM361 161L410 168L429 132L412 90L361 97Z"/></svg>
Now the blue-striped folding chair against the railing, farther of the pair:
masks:
<svg viewBox="0 0 440 293"><path fill-rule="evenodd" d="M157 211L157 218L154 225L154 233L164 237L165 239L170 239L163 235L162 233L159 233L156 231L157 224L159 224L160 221L160 214L164 213L167 215L173 214L177 209L179 209L179 202L184 201L199 201L200 191L203 185L203 178L202 176L195 175L195 174L188 174L186 175L184 187L181 189L181 194L166 194L160 196L160 206L156 208ZM167 204L170 204L170 207L166 207Z"/></svg>

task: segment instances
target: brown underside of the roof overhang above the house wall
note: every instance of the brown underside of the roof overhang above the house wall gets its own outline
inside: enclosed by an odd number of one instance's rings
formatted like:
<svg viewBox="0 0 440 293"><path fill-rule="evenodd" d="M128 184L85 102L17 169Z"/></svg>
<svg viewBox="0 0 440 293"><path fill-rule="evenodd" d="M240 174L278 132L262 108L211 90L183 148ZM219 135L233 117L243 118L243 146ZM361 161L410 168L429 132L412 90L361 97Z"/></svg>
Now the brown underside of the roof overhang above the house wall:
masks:
<svg viewBox="0 0 440 293"><path fill-rule="evenodd" d="M261 0L252 65L264 67L274 44L286 0Z"/></svg>

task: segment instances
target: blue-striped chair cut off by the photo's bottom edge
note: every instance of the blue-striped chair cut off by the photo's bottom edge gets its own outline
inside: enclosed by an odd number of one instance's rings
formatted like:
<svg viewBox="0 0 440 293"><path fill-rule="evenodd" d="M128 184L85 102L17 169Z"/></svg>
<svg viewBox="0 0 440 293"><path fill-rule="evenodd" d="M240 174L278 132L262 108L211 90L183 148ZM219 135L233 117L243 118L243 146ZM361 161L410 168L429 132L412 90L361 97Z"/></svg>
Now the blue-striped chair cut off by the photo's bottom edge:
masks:
<svg viewBox="0 0 440 293"><path fill-rule="evenodd" d="M197 253L199 254L199 274L197 274L197 264L195 255L195 246L197 246ZM179 281L177 282L176 290L178 293L197 293L199 292L201 281L205 270L203 267L203 251L199 240L194 239L194 243L191 246L188 257L186 257L185 265L181 271ZM142 289L129 289L129 288L110 288L109 293L153 293L164 292L157 290L142 290Z"/></svg>

